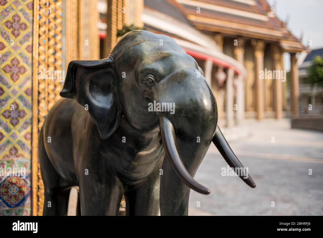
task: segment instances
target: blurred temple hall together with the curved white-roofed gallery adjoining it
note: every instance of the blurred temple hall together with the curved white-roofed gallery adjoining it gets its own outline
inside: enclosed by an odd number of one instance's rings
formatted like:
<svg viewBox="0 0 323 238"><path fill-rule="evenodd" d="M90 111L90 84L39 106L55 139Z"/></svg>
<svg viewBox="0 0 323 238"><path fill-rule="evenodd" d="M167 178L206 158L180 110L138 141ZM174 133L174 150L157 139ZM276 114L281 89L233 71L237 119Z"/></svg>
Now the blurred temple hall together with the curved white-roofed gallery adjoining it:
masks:
<svg viewBox="0 0 323 238"><path fill-rule="evenodd" d="M145 29L174 38L203 69L219 118L227 126L244 118L297 115L297 53L309 50L265 0L146 0L141 4ZM290 87L283 65L285 52L290 54Z"/></svg>

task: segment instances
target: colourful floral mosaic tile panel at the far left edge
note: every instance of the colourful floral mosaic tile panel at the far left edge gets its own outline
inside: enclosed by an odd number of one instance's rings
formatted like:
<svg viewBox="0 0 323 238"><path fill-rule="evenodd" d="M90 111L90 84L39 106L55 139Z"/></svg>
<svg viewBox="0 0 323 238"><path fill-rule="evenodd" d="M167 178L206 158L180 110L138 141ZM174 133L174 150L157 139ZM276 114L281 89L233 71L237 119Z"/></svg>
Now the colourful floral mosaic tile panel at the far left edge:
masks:
<svg viewBox="0 0 323 238"><path fill-rule="evenodd" d="M33 0L0 0L0 216L30 215Z"/></svg>

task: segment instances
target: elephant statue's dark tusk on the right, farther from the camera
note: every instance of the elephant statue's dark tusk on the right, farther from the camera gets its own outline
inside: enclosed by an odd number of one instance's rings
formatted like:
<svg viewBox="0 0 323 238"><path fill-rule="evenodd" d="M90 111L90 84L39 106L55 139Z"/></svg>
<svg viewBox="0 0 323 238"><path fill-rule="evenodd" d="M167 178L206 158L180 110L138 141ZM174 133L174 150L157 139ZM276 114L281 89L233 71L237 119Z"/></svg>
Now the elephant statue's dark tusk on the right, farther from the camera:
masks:
<svg viewBox="0 0 323 238"><path fill-rule="evenodd" d="M222 134L218 125L216 126L215 135L212 141L231 168L244 169L243 175L241 174L240 175L237 174L237 175L239 175L239 177L251 188L255 188L256 184L254 180L252 180L251 176L249 176L248 172L245 170L245 167L241 164L239 159L233 153L231 147L229 146L228 142L224 138L224 135Z"/></svg>

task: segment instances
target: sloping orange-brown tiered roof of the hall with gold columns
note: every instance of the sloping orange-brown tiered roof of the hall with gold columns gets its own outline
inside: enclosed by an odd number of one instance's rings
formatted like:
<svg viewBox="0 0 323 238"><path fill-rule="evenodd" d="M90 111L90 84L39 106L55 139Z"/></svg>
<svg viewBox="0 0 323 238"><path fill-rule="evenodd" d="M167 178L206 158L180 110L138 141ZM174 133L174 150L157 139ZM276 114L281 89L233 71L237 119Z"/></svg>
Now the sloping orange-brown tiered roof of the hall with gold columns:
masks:
<svg viewBox="0 0 323 238"><path fill-rule="evenodd" d="M301 41L286 28L286 24L271 12L271 6L266 0L176 2L181 5L180 9L187 19L199 30L278 42L288 52L306 50Z"/></svg>

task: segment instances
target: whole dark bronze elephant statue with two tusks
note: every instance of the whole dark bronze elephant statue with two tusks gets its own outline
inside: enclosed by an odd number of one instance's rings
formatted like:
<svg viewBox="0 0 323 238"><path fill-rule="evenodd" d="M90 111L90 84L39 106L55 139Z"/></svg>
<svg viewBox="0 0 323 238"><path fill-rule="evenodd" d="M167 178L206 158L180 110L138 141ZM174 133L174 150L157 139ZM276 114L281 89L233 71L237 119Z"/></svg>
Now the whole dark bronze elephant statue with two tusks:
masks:
<svg viewBox="0 0 323 238"><path fill-rule="evenodd" d="M81 215L118 215L123 195L126 215L188 215L190 189L210 193L193 177L212 141L243 168L203 71L168 36L131 31L107 59L71 61L60 96L39 134L44 215L67 213L72 186Z"/></svg>

